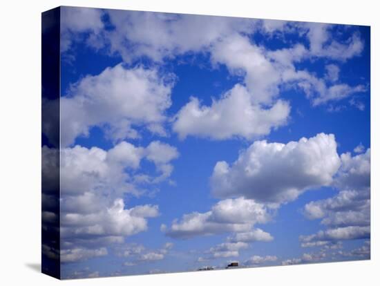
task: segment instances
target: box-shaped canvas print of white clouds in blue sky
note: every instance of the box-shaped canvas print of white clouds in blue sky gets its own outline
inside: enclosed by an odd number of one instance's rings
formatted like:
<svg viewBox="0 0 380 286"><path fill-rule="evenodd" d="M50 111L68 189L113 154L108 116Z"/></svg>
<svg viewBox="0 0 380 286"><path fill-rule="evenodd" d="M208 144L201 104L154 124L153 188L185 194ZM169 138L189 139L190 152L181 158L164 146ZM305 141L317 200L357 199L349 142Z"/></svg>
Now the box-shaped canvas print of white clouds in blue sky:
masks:
<svg viewBox="0 0 380 286"><path fill-rule="evenodd" d="M41 153L57 278L368 260L370 27L49 10Z"/></svg>

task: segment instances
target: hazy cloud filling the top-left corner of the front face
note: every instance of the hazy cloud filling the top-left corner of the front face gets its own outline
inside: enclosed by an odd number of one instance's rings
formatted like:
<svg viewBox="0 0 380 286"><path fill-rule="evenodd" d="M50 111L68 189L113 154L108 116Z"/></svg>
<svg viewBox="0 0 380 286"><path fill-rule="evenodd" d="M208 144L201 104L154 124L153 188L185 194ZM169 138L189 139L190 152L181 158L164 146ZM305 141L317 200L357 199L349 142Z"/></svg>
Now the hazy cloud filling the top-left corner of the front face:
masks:
<svg viewBox="0 0 380 286"><path fill-rule="evenodd" d="M70 52L73 42L79 39L86 39L93 48L103 46L102 16L100 9L61 7L61 53Z"/></svg>

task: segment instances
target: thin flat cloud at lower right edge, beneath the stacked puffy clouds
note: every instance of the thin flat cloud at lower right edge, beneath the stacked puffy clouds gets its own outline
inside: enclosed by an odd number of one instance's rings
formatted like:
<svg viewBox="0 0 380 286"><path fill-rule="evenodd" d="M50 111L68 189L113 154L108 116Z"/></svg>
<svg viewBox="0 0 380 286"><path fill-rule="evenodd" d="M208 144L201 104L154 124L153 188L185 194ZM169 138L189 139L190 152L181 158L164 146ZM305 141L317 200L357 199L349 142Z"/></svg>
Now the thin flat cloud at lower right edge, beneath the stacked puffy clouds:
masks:
<svg viewBox="0 0 380 286"><path fill-rule="evenodd" d="M301 242L330 241L330 240L354 240L370 238L370 226L337 227L318 231L310 236L300 236Z"/></svg>

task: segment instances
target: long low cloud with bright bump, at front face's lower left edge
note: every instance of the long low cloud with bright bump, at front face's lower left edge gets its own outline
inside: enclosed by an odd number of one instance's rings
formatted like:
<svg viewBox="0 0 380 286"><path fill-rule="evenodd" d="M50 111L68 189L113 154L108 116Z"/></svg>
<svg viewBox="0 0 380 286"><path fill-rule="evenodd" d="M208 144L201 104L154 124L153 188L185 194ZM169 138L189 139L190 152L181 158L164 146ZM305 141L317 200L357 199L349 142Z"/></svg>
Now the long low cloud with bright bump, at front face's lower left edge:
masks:
<svg viewBox="0 0 380 286"><path fill-rule="evenodd" d="M132 236L146 231L146 218L158 215L158 206L144 205L124 209L124 201L117 199L111 207L96 213L63 213L61 236L66 240L81 236Z"/></svg>

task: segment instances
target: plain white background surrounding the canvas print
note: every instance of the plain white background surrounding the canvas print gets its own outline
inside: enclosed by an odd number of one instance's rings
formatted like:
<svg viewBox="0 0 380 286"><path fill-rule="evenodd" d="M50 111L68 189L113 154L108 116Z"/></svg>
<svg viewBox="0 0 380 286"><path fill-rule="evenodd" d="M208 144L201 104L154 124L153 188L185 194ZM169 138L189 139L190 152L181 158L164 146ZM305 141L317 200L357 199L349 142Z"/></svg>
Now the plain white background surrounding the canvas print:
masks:
<svg viewBox="0 0 380 286"><path fill-rule="evenodd" d="M371 26L372 260L68 280L65 285L378 285L379 8L377 1L3 1L0 33L0 284L55 285L39 273L41 241L41 15L59 5L184 12ZM376 88L376 89L375 89ZM375 205L377 204L377 205ZM62 283L62 282L61 282Z"/></svg>

